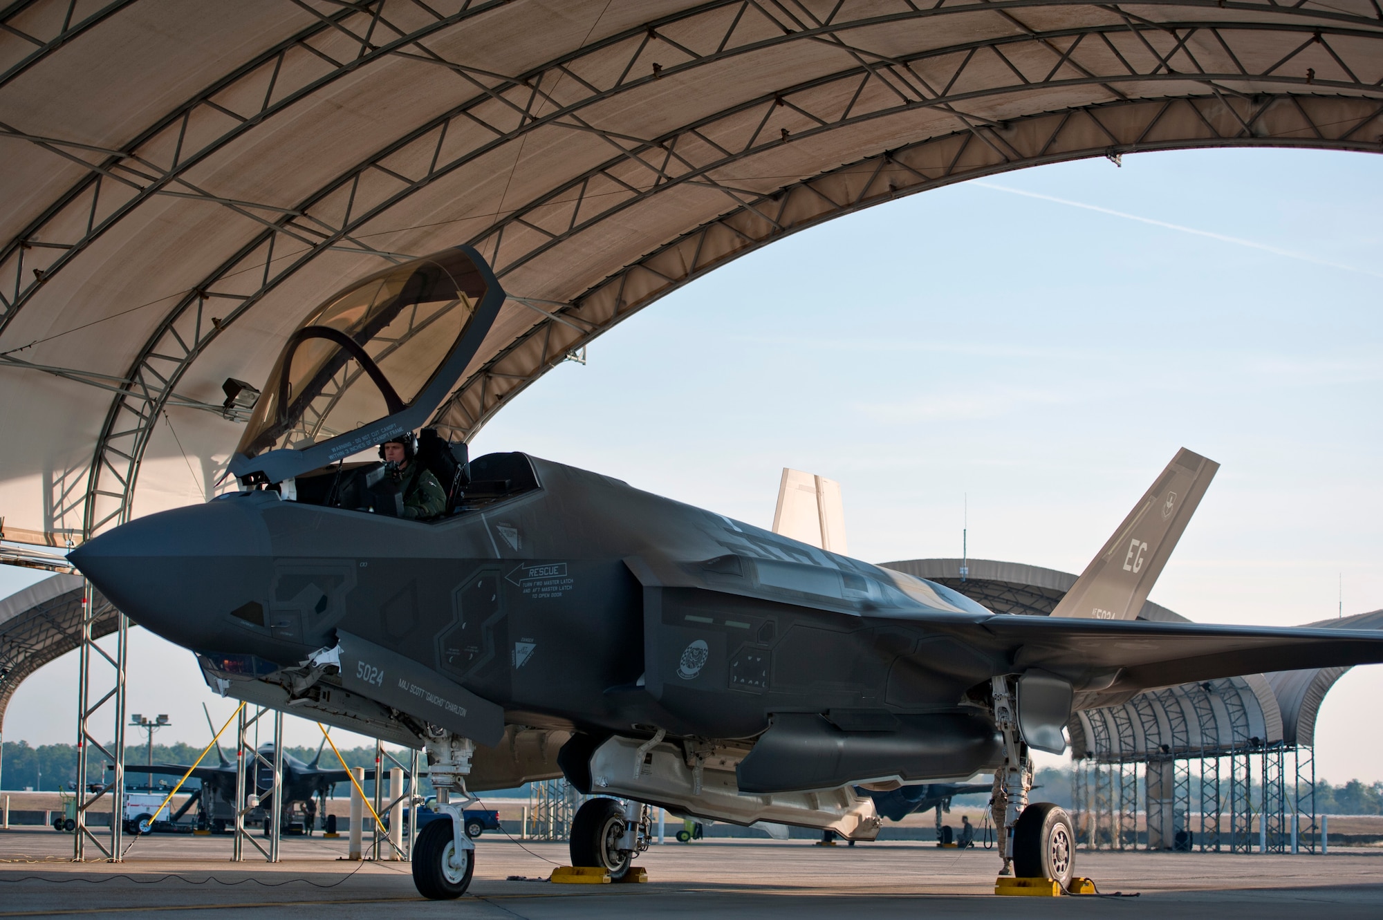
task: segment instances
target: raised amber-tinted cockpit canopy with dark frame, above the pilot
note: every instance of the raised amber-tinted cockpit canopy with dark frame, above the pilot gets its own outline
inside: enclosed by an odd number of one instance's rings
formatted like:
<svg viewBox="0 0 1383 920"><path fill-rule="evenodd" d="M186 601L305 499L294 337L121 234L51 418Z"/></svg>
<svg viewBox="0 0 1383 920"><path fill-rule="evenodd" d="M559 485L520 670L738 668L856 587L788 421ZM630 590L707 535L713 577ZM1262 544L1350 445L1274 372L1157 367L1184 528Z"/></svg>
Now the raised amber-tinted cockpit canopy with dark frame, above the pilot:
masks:
<svg viewBox="0 0 1383 920"><path fill-rule="evenodd" d="M459 378L503 291L449 249L350 285L289 336L231 464L277 482L419 427Z"/></svg>

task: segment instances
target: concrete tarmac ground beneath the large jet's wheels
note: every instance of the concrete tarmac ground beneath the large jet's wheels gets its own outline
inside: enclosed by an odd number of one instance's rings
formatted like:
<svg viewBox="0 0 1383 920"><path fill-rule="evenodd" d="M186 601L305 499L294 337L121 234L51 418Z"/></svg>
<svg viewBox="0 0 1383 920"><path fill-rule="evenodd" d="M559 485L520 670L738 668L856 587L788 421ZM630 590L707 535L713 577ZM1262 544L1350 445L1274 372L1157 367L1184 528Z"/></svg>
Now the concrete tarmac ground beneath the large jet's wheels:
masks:
<svg viewBox="0 0 1383 920"><path fill-rule="evenodd" d="M284 862L227 862L228 837L140 838L126 862L72 863L72 837L0 832L0 919L160 917L521 917L526 920L763 917L1166 917L1264 920L1383 917L1383 851L1308 855L1082 852L1077 872L1122 898L997 898L997 858L920 843L815 847L802 841L669 843L640 856L650 883L556 885L566 844L479 841L470 892L418 897L407 863L349 862L347 841L286 838ZM257 855L257 854L253 854Z"/></svg>

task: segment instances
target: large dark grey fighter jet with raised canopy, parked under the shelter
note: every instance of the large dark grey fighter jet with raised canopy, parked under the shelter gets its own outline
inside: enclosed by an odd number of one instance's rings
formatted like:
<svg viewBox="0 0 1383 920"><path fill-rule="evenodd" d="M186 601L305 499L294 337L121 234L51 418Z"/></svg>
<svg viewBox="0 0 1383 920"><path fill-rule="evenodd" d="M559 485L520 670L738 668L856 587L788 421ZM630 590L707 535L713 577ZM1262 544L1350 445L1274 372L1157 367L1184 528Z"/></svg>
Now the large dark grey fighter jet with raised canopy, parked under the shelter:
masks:
<svg viewBox="0 0 1383 920"><path fill-rule="evenodd" d="M1052 617L560 463L467 464L437 438L409 461L437 464L445 511L412 519L397 470L347 457L411 439L503 298L467 247L350 285L285 344L231 463L238 493L71 554L221 693L426 749L452 816L415 848L429 898L470 883L470 792L557 775L596 796L573 862L621 877L649 805L870 840L860 789L993 771L1003 870L1066 883L1070 821L1028 803L1029 751L1065 750L1073 710L1383 660L1375 633L1131 619L1214 472L1189 450Z"/></svg>

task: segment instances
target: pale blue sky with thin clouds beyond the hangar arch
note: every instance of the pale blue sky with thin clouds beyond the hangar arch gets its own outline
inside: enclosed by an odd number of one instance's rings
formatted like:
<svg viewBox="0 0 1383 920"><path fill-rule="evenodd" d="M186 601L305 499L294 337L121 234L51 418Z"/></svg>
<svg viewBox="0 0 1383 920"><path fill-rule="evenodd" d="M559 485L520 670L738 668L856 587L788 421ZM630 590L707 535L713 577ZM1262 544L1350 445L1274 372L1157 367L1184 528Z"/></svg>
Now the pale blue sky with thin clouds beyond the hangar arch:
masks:
<svg viewBox="0 0 1383 920"><path fill-rule="evenodd" d="M761 526L790 466L841 483L857 558L960 555L968 528L971 557L1079 573L1185 446L1223 466L1151 600L1206 623L1379 609L1380 213L1383 159L1321 151L1131 153L925 192L647 307L473 456L526 450ZM0 595L29 580L0 566ZM6 740L71 742L75 674L69 656L30 677ZM1369 699L1383 666L1326 698L1319 776L1383 780ZM234 709L134 630L129 709L171 716L158 740L205 745L203 702Z"/></svg>

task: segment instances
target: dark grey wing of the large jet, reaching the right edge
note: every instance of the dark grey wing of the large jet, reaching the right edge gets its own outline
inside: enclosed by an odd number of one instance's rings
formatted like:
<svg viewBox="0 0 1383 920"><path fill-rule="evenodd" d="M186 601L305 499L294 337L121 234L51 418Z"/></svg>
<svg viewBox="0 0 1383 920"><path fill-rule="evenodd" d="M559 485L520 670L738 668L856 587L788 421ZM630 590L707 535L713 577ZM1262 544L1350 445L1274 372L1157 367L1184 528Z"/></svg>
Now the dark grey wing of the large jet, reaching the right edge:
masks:
<svg viewBox="0 0 1383 920"><path fill-rule="evenodd" d="M1383 635L1372 630L1046 616L992 616L981 626L1015 671L1040 669L1070 681L1075 709L1236 674L1383 662Z"/></svg>

